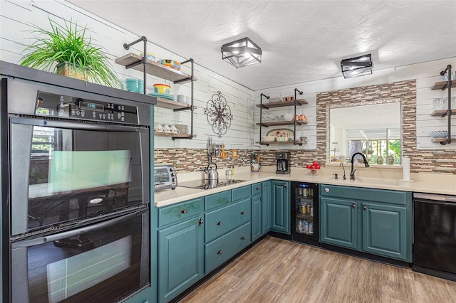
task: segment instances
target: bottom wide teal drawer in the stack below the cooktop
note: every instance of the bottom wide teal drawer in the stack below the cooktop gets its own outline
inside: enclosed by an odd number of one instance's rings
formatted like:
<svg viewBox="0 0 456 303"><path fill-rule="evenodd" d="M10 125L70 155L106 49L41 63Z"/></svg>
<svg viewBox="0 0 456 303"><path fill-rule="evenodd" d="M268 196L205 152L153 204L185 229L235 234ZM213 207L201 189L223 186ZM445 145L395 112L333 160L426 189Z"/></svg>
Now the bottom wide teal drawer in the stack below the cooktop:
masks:
<svg viewBox="0 0 456 303"><path fill-rule="evenodd" d="M250 223L240 226L217 240L205 245L206 270L211 272L250 244Z"/></svg>

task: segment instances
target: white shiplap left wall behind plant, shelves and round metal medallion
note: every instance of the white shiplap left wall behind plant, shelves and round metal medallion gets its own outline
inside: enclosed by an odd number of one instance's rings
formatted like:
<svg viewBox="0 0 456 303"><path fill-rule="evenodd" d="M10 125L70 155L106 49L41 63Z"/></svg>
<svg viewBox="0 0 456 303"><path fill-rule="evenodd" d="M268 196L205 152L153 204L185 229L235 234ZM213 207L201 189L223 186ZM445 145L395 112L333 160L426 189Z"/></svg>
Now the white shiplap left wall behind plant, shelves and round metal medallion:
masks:
<svg viewBox="0 0 456 303"><path fill-rule="evenodd" d="M106 2L109 3L108 1ZM30 39L33 34L29 31L33 28L31 24L41 28L50 28L48 17L53 21L63 24L65 21L73 21L79 26L88 27L88 36L93 39L93 43L105 48L112 58L113 70L118 74L121 81L125 78L142 79L142 73L136 70L126 70L122 65L114 63L115 58L126 53L141 53L142 43L132 46L130 50L123 48L123 43L135 41L142 33L130 33L125 29L115 26L115 24L83 11L77 6L73 6L66 1L0 1L0 60L10 63L19 63L22 58L22 51L33 41ZM153 41L153 37L147 37L147 52L155 54L160 59L174 59L178 61L186 60L176 53L160 48L160 41ZM157 43L155 45L154 43ZM189 64L190 67L190 64ZM190 73L190 68L182 67L182 71ZM227 64L227 68L232 68ZM195 76L197 81L194 83L195 110L194 134L195 139L178 139L172 141L170 137L155 137L155 148L205 148L207 136L212 136L214 141L224 142L229 149L246 149L252 142L253 134L253 91L246 87L234 83L232 80L213 73L206 68L202 68L195 62ZM190 97L190 83L175 85L162 78L155 78L147 75L147 87L152 92L154 83L167 83L172 87L172 94L187 95ZM231 107L233 119L227 134L222 138L212 132L212 127L207 122L204 115L207 101L212 95L221 92L227 99ZM190 112L173 112L172 110L155 107L155 122L162 124L190 124Z"/></svg>

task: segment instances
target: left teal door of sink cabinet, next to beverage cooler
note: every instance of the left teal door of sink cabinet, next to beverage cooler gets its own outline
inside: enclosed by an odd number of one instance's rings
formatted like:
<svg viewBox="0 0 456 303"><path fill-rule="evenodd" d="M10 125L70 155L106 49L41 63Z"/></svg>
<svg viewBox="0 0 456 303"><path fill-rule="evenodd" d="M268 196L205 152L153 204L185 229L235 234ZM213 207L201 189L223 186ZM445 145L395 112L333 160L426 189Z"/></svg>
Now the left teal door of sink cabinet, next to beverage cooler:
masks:
<svg viewBox="0 0 456 303"><path fill-rule="evenodd" d="M320 241L357 249L356 202L323 197L320 201Z"/></svg>

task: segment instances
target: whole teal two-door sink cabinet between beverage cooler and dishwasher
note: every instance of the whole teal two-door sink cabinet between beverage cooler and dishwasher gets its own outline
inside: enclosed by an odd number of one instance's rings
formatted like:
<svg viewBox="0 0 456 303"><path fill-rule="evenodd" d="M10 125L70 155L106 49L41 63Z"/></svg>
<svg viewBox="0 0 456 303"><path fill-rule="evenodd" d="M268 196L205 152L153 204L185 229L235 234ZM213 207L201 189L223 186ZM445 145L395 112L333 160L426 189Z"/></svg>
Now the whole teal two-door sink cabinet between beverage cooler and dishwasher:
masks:
<svg viewBox="0 0 456 303"><path fill-rule="evenodd" d="M320 186L320 241L412 262L412 193Z"/></svg>

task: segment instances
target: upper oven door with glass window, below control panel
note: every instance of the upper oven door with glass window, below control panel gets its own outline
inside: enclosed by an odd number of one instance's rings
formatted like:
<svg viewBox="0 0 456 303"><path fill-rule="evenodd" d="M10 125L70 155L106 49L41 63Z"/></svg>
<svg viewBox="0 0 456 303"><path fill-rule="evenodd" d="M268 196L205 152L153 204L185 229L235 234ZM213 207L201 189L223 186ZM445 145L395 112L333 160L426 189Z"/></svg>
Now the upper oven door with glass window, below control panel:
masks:
<svg viewBox="0 0 456 303"><path fill-rule="evenodd" d="M148 131L14 118L12 235L147 204Z"/></svg>

